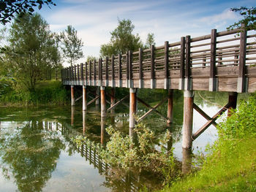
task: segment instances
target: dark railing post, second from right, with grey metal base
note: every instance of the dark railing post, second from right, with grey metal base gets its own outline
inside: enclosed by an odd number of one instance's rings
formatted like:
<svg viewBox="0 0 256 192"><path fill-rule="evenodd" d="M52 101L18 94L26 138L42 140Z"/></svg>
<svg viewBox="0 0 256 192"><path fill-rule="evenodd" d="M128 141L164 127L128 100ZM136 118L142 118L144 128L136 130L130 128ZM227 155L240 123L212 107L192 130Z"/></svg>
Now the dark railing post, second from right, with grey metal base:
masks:
<svg viewBox="0 0 256 192"><path fill-rule="evenodd" d="M212 29L211 30L211 61L210 61L209 91L217 91L216 45L217 45L217 29Z"/></svg>

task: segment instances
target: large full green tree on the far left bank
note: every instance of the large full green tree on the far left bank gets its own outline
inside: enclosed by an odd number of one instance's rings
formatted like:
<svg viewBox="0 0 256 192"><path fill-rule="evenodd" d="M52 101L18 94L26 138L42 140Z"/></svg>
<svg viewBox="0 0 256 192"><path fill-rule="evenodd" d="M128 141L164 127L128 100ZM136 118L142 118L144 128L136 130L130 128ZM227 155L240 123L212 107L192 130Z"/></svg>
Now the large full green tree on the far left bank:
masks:
<svg viewBox="0 0 256 192"><path fill-rule="evenodd" d="M34 91L36 82L43 79L45 71L60 65L54 34L39 14L25 14L19 22L15 20L7 40L5 63L12 69L12 77L29 91Z"/></svg>

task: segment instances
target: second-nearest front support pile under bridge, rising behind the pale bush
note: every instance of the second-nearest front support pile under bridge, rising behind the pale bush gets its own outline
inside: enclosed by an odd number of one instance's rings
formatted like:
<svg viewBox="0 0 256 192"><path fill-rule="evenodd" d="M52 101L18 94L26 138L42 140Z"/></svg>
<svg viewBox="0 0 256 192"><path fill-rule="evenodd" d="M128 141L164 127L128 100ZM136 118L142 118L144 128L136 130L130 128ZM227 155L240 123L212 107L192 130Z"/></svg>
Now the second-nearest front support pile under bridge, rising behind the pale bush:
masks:
<svg viewBox="0 0 256 192"><path fill-rule="evenodd" d="M129 88L129 128L135 128L136 89Z"/></svg>

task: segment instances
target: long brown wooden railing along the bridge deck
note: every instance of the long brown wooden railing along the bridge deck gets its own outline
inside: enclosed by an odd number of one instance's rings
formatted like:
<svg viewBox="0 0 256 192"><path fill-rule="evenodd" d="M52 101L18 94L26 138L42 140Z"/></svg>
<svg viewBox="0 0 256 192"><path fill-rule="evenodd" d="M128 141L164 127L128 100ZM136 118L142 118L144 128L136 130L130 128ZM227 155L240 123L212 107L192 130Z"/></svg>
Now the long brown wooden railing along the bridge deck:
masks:
<svg viewBox="0 0 256 192"><path fill-rule="evenodd" d="M84 85L99 86L104 81L105 86L119 84L119 87L133 86L128 82L131 80L163 80L166 85L189 89L185 84L191 83L190 79L208 78L208 89L216 91L217 78L236 77L241 79L236 80L238 84L240 81L244 84L246 77L256 76L254 69L248 70L256 64L256 35L253 33L243 28L221 32L212 29L211 34L201 37L181 37L180 42L165 42L159 47L151 45L146 50L127 51L69 66L62 70L62 80L85 81ZM187 81L182 86L184 79ZM114 85L113 81L119 82ZM158 88L158 85L152 88ZM198 88L200 90L200 85Z"/></svg>

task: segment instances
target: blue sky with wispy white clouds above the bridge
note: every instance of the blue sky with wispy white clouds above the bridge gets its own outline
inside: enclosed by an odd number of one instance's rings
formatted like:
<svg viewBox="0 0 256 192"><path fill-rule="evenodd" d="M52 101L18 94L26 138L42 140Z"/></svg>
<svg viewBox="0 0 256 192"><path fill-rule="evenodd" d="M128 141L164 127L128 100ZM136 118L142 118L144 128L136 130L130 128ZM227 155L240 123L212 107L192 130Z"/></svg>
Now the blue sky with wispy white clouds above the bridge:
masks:
<svg viewBox="0 0 256 192"><path fill-rule="evenodd" d="M53 0L54 1L54 0ZM255 0L55 0L56 7L45 6L39 14L54 32L72 25L83 40L84 58L99 56L100 45L110 41L110 31L118 19L130 19L135 34L146 42L154 33L157 46L165 41L178 42L181 37L198 37L211 33L212 28L225 31L227 26L241 19L230 7L255 7Z"/></svg>

